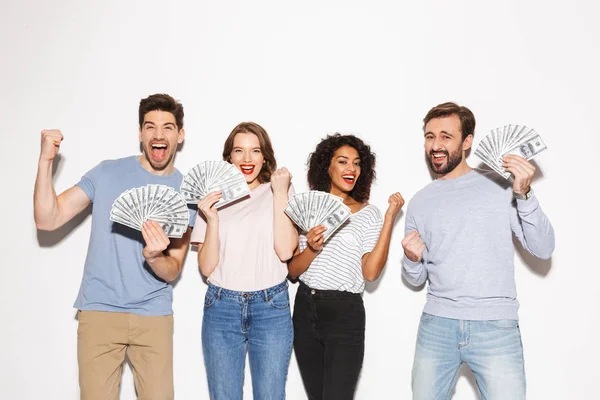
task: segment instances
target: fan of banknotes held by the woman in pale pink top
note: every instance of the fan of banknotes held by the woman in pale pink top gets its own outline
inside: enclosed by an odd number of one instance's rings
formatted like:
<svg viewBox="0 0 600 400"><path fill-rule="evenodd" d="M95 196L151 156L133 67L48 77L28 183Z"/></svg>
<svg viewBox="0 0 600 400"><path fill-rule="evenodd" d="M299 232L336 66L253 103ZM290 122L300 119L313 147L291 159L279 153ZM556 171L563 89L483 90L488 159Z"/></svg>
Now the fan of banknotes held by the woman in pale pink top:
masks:
<svg viewBox="0 0 600 400"><path fill-rule="evenodd" d="M205 161L192 168L181 182L179 191L185 201L198 204L207 194L220 190L221 199L215 207L223 207L250 194L246 178L226 161Z"/></svg>

